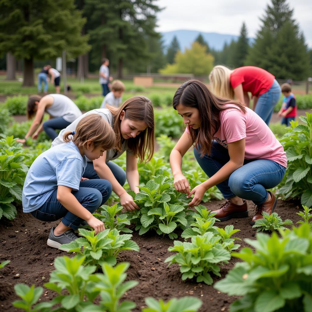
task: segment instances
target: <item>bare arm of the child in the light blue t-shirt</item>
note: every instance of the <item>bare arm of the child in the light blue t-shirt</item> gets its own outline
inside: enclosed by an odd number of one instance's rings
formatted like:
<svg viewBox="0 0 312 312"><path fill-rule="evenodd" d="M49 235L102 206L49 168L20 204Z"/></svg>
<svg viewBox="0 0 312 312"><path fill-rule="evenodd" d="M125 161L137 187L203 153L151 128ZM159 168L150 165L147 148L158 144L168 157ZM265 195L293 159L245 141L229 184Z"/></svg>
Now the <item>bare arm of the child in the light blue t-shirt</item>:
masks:
<svg viewBox="0 0 312 312"><path fill-rule="evenodd" d="M95 234L105 230L104 223L96 219L90 211L85 209L77 198L71 193L72 188L64 185L58 185L57 187L57 200L75 216L88 222L90 227L94 228Z"/></svg>

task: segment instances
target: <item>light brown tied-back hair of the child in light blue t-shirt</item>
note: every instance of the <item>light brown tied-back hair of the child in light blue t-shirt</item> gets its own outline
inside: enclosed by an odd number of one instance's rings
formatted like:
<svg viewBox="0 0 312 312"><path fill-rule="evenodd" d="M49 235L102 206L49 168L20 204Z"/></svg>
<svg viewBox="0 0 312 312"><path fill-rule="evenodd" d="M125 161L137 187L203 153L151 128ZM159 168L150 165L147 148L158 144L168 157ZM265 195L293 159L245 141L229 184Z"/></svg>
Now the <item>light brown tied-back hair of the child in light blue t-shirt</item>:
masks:
<svg viewBox="0 0 312 312"><path fill-rule="evenodd" d="M102 147L105 151L115 148L116 135L111 125L99 114L89 114L83 117L77 124L75 134L67 131L63 135L63 141L70 140L76 146L86 149L87 142L92 141L94 148Z"/></svg>

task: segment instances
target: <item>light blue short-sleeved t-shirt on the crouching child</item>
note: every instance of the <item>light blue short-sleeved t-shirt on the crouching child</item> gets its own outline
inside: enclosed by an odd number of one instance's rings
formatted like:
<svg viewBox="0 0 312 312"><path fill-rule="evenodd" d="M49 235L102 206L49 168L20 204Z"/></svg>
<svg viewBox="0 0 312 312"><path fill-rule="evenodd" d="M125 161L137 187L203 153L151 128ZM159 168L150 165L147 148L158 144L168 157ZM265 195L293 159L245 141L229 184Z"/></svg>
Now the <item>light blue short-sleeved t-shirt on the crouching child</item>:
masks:
<svg viewBox="0 0 312 312"><path fill-rule="evenodd" d="M86 165L85 155L81 156L72 141L54 146L40 154L30 166L25 179L23 212L40 208L58 185L78 191Z"/></svg>

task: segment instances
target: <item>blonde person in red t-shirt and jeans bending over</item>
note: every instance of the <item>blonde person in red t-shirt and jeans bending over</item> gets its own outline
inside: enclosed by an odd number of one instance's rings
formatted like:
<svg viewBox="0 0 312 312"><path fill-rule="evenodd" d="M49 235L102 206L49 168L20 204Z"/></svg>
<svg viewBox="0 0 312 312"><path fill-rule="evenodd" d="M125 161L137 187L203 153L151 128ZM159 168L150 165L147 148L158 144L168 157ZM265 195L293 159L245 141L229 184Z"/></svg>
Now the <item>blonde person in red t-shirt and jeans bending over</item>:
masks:
<svg viewBox="0 0 312 312"><path fill-rule="evenodd" d="M217 65L210 75L212 91L218 96L233 99L234 96L240 103L250 106L248 92L253 97L252 109L268 125L274 106L280 99L281 89L275 77L268 71L255 67L243 66L230 70Z"/></svg>

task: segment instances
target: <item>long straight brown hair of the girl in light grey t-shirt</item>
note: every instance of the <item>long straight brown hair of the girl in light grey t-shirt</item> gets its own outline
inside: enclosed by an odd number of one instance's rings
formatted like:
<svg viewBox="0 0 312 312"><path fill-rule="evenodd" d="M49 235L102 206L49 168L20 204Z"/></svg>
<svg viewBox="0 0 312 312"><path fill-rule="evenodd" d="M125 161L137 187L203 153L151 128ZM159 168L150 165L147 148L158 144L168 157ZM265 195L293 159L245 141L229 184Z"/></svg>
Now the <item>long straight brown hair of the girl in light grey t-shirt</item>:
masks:
<svg viewBox="0 0 312 312"><path fill-rule="evenodd" d="M144 121L147 128L138 134L135 138L127 140L130 150L134 153L140 162L146 159L150 161L154 154L154 110L151 101L145 96L133 96L126 100L119 108L106 105L114 116L114 131L117 138L116 148L120 151L122 148L122 137L120 132L120 114L124 110L124 118L130 120Z"/></svg>

